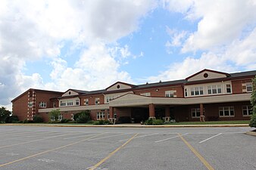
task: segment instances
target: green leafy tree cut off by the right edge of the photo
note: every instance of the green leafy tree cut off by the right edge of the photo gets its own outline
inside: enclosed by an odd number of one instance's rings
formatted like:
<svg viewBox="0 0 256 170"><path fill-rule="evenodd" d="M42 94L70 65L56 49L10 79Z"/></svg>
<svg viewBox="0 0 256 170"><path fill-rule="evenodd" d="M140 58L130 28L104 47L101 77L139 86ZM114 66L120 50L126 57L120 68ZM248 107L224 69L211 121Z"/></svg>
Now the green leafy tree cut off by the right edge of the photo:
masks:
<svg viewBox="0 0 256 170"><path fill-rule="evenodd" d="M250 126L256 128L256 76L252 80L252 93L251 93L251 106L252 106L252 115Z"/></svg>

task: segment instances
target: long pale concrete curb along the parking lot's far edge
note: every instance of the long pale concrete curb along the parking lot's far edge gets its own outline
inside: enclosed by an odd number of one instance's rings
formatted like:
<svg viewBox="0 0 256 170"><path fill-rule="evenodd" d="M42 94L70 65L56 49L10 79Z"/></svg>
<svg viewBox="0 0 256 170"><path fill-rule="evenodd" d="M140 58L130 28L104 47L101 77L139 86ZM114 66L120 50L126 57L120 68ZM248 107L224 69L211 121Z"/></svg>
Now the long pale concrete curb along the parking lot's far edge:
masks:
<svg viewBox="0 0 256 170"><path fill-rule="evenodd" d="M17 126L45 126L45 127L83 127L83 128L220 128L220 127L248 127L248 124L230 125L33 125L33 124L0 124ZM252 132L254 133L254 132ZM256 133L255 133L256 134Z"/></svg>

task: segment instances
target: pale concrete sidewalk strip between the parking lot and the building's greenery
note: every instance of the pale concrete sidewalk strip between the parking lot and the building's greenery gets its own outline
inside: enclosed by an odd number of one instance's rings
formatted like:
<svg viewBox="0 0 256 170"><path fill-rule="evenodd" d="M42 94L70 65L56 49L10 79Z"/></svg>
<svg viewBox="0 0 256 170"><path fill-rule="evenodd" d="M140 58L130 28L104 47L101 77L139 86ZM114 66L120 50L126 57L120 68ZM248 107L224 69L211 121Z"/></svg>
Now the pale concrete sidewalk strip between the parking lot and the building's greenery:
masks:
<svg viewBox="0 0 256 170"><path fill-rule="evenodd" d="M69 124L36 124L36 123L10 123L0 125L21 125L21 126L50 126L50 127L106 127L106 128L196 128L196 127L248 127L248 124L226 124L226 125L140 125L136 123L116 125L69 125Z"/></svg>

